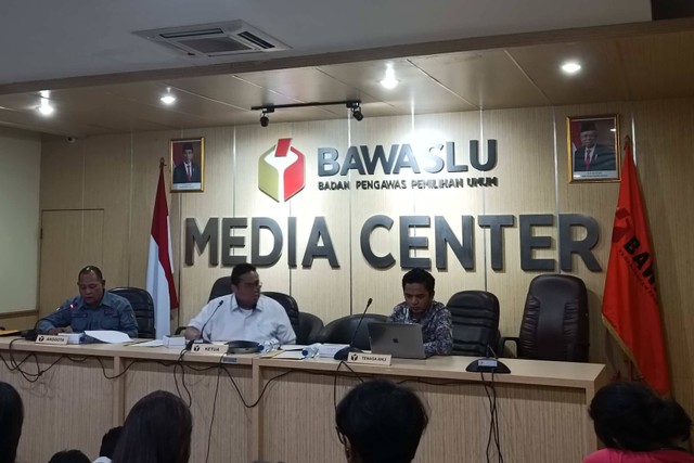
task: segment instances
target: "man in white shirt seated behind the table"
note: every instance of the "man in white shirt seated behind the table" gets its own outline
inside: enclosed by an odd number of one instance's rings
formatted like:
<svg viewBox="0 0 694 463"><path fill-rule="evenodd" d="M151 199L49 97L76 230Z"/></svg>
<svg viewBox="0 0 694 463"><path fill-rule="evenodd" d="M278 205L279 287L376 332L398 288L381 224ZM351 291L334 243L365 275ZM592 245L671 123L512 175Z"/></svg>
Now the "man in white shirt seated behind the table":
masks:
<svg viewBox="0 0 694 463"><path fill-rule="evenodd" d="M210 300L190 321L185 338L295 343L296 335L286 310L277 300L260 294L261 287L254 266L240 263L234 267L232 294Z"/></svg>

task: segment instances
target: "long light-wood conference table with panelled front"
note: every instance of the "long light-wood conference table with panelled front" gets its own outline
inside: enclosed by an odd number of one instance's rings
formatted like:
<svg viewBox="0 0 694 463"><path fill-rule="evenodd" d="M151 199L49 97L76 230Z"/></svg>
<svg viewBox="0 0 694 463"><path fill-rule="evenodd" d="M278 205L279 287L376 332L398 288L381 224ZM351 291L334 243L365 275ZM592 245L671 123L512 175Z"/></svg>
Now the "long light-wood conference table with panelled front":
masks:
<svg viewBox="0 0 694 463"><path fill-rule="evenodd" d="M24 400L23 462L72 448L94 459L103 434L157 389L190 404L192 463L342 462L335 403L372 377L402 383L426 404L416 462L481 462L497 449L506 462L579 462L597 449L587 408L607 381L602 364L519 359L502 359L511 373L492 377L457 356L374 365L17 338L0 338L0 381Z"/></svg>

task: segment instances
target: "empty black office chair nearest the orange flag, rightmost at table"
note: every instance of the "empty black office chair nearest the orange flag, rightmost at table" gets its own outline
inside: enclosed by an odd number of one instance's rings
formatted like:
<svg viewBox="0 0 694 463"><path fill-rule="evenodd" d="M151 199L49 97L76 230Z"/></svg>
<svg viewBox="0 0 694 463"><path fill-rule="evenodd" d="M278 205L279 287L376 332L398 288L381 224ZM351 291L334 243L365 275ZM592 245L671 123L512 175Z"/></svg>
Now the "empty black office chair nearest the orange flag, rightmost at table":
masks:
<svg viewBox="0 0 694 463"><path fill-rule="evenodd" d="M520 332L501 338L516 344L518 358L587 362L589 342L588 292L579 278L536 276L528 288Z"/></svg>

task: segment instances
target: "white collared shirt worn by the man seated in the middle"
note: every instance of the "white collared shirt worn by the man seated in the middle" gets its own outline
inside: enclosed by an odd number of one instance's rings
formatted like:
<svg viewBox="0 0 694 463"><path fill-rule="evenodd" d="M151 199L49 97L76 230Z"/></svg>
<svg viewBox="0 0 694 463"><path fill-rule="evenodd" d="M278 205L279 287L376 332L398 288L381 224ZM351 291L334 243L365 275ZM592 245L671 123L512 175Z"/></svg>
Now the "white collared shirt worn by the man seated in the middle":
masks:
<svg viewBox="0 0 694 463"><path fill-rule="evenodd" d="M239 307L233 294L218 297L203 307L188 325L201 330L205 340L296 342L284 307L264 295L253 310Z"/></svg>

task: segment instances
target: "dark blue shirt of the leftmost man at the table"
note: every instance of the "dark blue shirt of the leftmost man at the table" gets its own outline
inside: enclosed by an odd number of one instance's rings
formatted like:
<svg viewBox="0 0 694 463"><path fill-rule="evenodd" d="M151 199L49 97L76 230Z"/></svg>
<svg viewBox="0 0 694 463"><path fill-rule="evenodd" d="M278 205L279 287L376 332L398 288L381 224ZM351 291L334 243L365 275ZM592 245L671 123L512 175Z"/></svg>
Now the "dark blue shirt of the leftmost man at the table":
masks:
<svg viewBox="0 0 694 463"><path fill-rule="evenodd" d="M67 299L48 317L39 320L37 331L48 333L54 327L72 326L73 332L87 330L115 330L130 337L138 337L138 322L132 306L125 297L104 293L97 307L89 307L80 296Z"/></svg>

